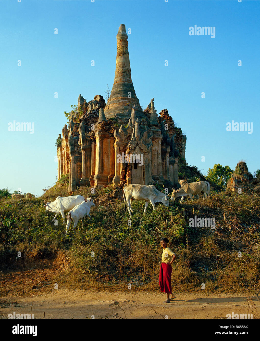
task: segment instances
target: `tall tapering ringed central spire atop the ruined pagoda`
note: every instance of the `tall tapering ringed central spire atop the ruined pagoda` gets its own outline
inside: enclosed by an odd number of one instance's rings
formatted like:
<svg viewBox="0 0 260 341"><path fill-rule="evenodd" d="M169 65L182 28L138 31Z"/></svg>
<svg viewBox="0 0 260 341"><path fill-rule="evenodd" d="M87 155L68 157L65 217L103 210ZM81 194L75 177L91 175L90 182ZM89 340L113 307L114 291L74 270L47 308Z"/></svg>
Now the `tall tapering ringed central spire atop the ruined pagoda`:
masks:
<svg viewBox="0 0 260 341"><path fill-rule="evenodd" d="M122 24L117 34L117 60L114 84L104 110L106 118L120 117L125 123L131 117L134 105L136 118L145 120L131 78L127 38L125 25Z"/></svg>

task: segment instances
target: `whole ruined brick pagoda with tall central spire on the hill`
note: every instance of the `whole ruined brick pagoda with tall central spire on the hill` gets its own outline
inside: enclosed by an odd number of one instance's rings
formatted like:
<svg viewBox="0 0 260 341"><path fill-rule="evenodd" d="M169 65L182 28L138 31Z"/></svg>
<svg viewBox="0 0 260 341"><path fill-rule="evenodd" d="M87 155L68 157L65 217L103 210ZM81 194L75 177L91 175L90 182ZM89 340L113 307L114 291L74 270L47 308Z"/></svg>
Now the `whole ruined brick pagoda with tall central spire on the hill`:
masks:
<svg viewBox="0 0 260 341"><path fill-rule="evenodd" d="M68 128L65 124L62 129L58 179L69 174L69 193L84 185L178 183L178 159L185 160L186 136L174 127L167 109L157 117L154 99L142 110L131 78L127 38L121 25L107 103L101 95L90 102L79 95L78 112L70 113Z"/></svg>

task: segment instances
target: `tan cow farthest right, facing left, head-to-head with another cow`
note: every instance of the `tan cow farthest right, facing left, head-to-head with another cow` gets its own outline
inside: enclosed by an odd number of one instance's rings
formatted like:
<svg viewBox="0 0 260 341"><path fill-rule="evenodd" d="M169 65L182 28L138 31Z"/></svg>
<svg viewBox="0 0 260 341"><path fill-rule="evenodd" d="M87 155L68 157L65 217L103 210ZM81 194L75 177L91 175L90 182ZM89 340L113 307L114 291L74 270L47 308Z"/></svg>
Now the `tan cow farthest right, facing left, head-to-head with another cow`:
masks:
<svg viewBox="0 0 260 341"><path fill-rule="evenodd" d="M175 200L176 198L178 198L178 196L181 196L181 203L184 199L184 196L189 195L190 199L192 200L193 194L200 194L200 192L203 192L204 196L206 196L206 194L210 194L209 189L210 184L208 183L208 181L197 181L190 183L184 182L181 188L179 188L178 190L172 189L173 192L171 195L171 199Z"/></svg>

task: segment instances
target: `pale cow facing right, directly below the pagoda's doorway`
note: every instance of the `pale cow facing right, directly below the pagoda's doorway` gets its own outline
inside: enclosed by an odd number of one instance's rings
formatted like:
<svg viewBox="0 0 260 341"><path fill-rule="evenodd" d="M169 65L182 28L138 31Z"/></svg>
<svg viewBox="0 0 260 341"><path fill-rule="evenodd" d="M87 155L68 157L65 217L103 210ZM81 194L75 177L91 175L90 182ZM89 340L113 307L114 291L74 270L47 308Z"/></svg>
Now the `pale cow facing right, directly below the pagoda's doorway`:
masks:
<svg viewBox="0 0 260 341"><path fill-rule="evenodd" d="M146 186L146 185L139 185L139 184L130 184L124 187L123 189L124 203L128 209L130 217L132 217L131 212L134 212L131 207L133 200L145 200L146 201L146 204L144 206L144 213L143 213L143 214L146 214L146 209L149 203L152 204L153 210L155 210L154 203L162 202L164 206L169 206L169 198L168 198L169 195L170 194L166 195L165 193L158 191L153 185Z"/></svg>

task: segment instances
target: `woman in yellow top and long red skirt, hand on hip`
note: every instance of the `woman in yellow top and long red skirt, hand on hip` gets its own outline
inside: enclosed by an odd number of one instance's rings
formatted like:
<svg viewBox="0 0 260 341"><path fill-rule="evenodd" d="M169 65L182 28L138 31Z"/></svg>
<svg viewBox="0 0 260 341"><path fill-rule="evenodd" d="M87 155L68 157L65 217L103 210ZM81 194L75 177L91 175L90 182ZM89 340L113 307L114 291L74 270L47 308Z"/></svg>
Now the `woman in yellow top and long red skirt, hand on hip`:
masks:
<svg viewBox="0 0 260 341"><path fill-rule="evenodd" d="M162 255L162 264L160 267L160 275L159 275L159 285L160 290L163 293L166 293L166 301L163 303L170 303L175 296L171 291L171 263L176 258L175 253L171 251L170 248L167 247L169 240L167 238L161 238L160 245L164 249ZM171 298L170 298L171 294Z"/></svg>

